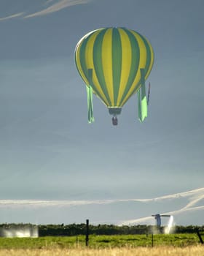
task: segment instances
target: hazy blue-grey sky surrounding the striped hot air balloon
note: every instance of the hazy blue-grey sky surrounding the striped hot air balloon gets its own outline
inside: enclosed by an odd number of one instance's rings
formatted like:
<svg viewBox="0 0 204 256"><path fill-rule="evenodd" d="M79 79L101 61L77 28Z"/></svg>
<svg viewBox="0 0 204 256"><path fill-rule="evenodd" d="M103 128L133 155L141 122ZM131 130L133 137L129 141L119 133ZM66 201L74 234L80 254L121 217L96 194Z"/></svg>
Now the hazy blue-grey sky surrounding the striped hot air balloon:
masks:
<svg viewBox="0 0 204 256"><path fill-rule="evenodd" d="M202 188L203 7L202 0L1 0L0 200L142 199ZM118 127L94 97L95 123L87 124L74 48L87 32L106 26L134 29L152 43L143 124L136 97L122 109ZM25 207L2 204L1 219L47 221L41 208L28 217ZM154 214L157 206L151 207ZM109 211L118 209L101 208L95 221L112 221ZM131 218L125 207L119 211L122 220L149 216L138 208ZM83 220L56 215L55 208L50 222ZM183 224L201 223L201 215Z"/></svg>

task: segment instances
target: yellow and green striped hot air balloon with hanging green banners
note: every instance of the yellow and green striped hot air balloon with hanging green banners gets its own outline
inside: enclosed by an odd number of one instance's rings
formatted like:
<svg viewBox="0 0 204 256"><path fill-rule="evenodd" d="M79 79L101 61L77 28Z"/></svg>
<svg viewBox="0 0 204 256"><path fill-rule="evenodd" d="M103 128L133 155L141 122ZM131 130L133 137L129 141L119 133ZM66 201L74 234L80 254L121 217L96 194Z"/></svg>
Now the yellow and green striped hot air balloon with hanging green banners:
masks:
<svg viewBox="0 0 204 256"><path fill-rule="evenodd" d="M88 121L93 118L93 93L109 109L112 123L133 94L138 93L138 118L147 116L145 80L154 63L149 41L126 28L90 31L76 45L75 64L87 87Z"/></svg>

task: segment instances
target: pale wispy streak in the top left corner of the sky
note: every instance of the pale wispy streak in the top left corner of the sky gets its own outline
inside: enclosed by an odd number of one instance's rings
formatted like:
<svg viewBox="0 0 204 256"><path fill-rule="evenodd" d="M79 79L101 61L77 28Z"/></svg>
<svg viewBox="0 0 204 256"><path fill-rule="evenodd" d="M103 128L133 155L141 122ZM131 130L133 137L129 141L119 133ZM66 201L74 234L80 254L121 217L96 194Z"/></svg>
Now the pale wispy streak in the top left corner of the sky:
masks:
<svg viewBox="0 0 204 256"><path fill-rule="evenodd" d="M33 18L37 16L43 16L43 15L49 15L53 12L59 12L60 10L63 10L65 8L77 5L77 4L87 4L90 2L90 0L47 0L46 1L46 6L49 5L48 7L44 7L44 4L39 8L38 12L33 12L31 11L31 14L26 14L26 12L19 12L15 13L12 15L9 15L7 17L0 18L1 20L9 20L11 18Z"/></svg>

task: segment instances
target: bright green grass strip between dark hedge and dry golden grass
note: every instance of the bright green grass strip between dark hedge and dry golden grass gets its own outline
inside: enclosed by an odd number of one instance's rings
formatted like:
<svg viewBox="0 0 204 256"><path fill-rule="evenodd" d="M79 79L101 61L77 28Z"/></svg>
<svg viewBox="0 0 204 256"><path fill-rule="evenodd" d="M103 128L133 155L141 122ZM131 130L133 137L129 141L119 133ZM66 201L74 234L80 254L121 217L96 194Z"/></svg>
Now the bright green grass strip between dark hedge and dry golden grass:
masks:
<svg viewBox="0 0 204 256"><path fill-rule="evenodd" d="M196 234L154 235L154 246L196 246L200 244ZM0 249L52 249L85 247L85 236L44 236L39 238L0 238ZM152 246L152 235L96 236L89 239L90 248Z"/></svg>

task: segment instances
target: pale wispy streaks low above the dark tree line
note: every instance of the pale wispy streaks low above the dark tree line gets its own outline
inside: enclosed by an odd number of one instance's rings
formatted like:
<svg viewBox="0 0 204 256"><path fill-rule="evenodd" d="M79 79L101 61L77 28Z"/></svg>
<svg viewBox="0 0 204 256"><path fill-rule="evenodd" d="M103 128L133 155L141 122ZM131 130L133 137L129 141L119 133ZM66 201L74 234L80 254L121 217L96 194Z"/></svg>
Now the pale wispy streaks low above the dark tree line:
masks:
<svg viewBox="0 0 204 256"><path fill-rule="evenodd" d="M111 205L115 203L166 203L169 200L181 199L181 205L186 202L185 206L177 208L172 211L161 212L160 214L178 215L190 211L200 211L204 209L204 187L200 189L193 189L187 192L180 192L176 194L163 195L161 197L153 198L132 198L132 199L109 199L109 200L0 200L0 208L55 208L55 207L80 207L93 205ZM183 200L185 199L185 200ZM178 203L176 203L178 206ZM111 206L110 206L111 207ZM117 222L117 225L136 225L138 223L153 223L152 217L141 217L138 219L124 219Z"/></svg>

